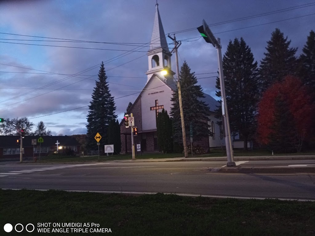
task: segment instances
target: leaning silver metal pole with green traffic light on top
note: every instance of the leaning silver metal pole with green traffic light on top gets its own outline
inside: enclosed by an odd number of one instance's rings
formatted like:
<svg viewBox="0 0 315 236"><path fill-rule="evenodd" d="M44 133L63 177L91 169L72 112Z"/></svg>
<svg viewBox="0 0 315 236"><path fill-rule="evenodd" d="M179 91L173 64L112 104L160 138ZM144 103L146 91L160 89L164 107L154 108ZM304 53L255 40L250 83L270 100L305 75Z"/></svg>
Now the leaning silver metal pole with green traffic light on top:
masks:
<svg viewBox="0 0 315 236"><path fill-rule="evenodd" d="M225 96L225 85L224 85L224 76L223 76L223 67L222 67L222 53L221 53L221 42L220 38L215 38L209 29L205 20L203 20L203 25L199 26L198 31L204 40L208 43L211 43L216 49L218 53L218 64L219 64L219 77L220 77L220 87L221 87L221 100L222 100L222 119L225 126L225 146L226 146L226 157L227 164L226 166L236 166L233 157L233 147L231 140L231 131L230 131L230 121L229 115L227 112L227 104L226 104L226 96Z"/></svg>

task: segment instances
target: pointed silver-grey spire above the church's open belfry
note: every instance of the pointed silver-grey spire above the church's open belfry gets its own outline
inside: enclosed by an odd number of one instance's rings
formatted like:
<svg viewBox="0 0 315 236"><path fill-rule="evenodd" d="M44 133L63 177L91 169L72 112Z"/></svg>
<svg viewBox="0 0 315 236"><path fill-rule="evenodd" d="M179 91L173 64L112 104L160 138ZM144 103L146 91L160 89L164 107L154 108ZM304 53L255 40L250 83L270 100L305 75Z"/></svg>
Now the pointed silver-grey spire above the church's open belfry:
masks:
<svg viewBox="0 0 315 236"><path fill-rule="evenodd" d="M167 46L167 41L165 33L163 30L163 25L158 11L158 4L156 4L154 24L152 30L151 44L149 52L157 48L163 48L165 51L169 52L169 47Z"/></svg>

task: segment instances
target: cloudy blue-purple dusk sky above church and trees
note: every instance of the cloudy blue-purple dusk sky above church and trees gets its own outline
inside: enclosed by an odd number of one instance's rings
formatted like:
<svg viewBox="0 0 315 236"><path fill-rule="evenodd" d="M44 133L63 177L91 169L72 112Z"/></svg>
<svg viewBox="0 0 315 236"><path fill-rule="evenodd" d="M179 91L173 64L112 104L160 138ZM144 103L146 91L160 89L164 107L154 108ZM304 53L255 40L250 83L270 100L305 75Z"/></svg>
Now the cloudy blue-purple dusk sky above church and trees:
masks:
<svg viewBox="0 0 315 236"><path fill-rule="evenodd" d="M155 3L0 1L0 117L25 116L35 125L43 121L54 135L86 133L87 105L104 61L121 121L128 103L146 84L146 43L151 40ZM203 91L214 97L211 73L218 68L217 54L199 37L196 28L203 19L221 38L222 54L229 40L243 37L258 63L275 28L288 36L291 47L299 48L298 55L315 30L312 1L158 0L158 4L165 33L175 32L182 42L180 65L186 60ZM176 71L175 56L172 65Z"/></svg>

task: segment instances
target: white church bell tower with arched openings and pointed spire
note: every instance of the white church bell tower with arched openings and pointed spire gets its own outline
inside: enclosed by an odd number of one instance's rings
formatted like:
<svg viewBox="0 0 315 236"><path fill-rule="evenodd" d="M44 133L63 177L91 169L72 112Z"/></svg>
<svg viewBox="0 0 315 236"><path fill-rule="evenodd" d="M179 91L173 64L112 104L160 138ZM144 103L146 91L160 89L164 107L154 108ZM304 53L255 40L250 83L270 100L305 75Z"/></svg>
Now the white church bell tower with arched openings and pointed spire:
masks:
<svg viewBox="0 0 315 236"><path fill-rule="evenodd" d="M175 72L172 71L171 56L169 47L167 45L160 13L158 10L158 4L156 3L154 24L152 30L151 44L148 55L149 70L146 72L148 80L153 74L159 76L165 83L172 83ZM167 71L167 74L163 73L163 70Z"/></svg>

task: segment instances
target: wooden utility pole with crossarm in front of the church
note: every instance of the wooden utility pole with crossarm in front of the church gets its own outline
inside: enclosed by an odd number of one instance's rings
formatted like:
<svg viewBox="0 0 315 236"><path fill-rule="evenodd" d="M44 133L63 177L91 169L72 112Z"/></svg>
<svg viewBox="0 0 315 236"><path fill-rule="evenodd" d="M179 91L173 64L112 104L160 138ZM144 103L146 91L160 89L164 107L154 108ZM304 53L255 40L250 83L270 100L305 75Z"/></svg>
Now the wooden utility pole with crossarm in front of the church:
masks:
<svg viewBox="0 0 315 236"><path fill-rule="evenodd" d="M179 109L180 109L181 130L183 132L184 155L185 155L185 158L187 158L188 157L188 152L187 152L187 145L186 145L187 144L186 143L186 130L185 130L183 104L182 104L182 101L181 101L180 77L179 77L178 56L177 56L177 48L179 48L181 43L178 43L176 41L175 34L174 34L174 38L170 37L169 35L168 35L168 37L174 41L174 45L175 45L173 50L172 50L172 52L175 51L177 88L178 88L178 100L179 100Z"/></svg>

